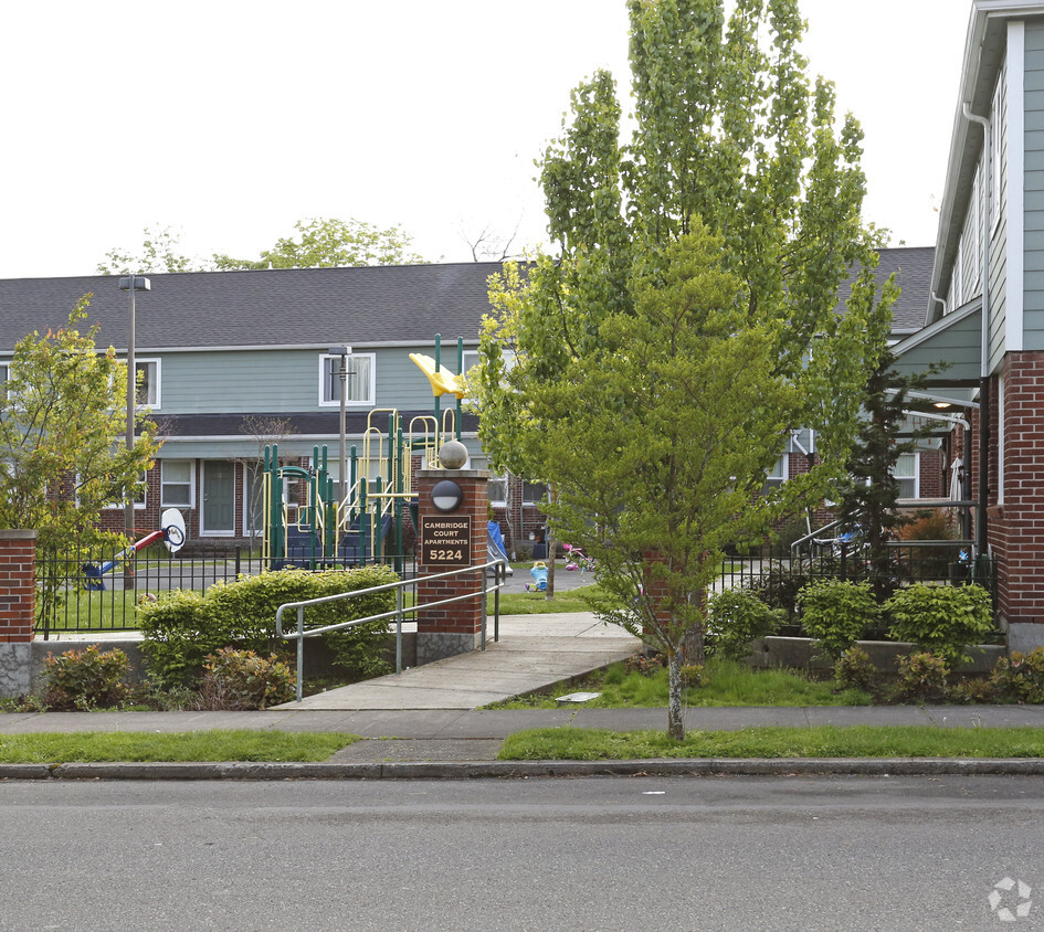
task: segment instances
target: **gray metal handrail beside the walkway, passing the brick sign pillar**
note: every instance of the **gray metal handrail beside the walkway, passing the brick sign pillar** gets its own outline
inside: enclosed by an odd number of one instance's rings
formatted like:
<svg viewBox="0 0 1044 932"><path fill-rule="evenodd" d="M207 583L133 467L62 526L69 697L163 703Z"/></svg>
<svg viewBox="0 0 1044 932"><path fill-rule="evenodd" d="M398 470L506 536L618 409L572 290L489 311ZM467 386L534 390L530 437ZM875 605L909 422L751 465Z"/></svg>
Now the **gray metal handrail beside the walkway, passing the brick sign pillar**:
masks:
<svg viewBox="0 0 1044 932"><path fill-rule="evenodd" d="M495 584L488 584L488 576L486 571L493 566L495 569ZM467 592L464 595L454 595L451 599L440 599L436 602L425 602L421 605L414 604L412 606L403 606L402 604L402 591L407 586L415 586L419 582L418 578L414 576L412 580L398 580L393 583L382 583L381 585L369 586L367 589L356 589L350 592L339 592L336 595L323 595L318 599L306 599L303 602L286 602L283 605L280 605L278 610L275 613L275 633L276 636L283 638L284 640L296 640L297 642L297 701L302 701L302 689L304 686L304 668L305 668L305 638L315 637L319 634L326 634L331 631L344 631L345 628L355 627L356 625L362 625L367 622L379 622L384 618L396 618L396 674L402 672L402 617L403 615L415 615L422 608L435 608L440 605L449 605L451 602L463 602L466 599L476 599L482 597L482 649L486 649L486 596L493 592L493 639L498 642L500 639L500 590L506 584L506 573L504 570L503 560L491 560L487 563L482 563L477 566L463 566L458 570L447 570L444 573L433 573L430 576L423 576L424 581L428 580L441 580L447 579L450 576L462 575L463 573L479 573L479 579L483 583L482 587L476 592ZM389 612L381 612L377 615L369 615L365 618L352 618L348 622L338 622L336 625L324 625L318 628L308 628L305 631L305 608L309 605L321 605L325 602L338 602L344 599L351 599L356 595L371 595L375 592L386 592L388 590L396 590L396 607ZM285 608L296 608L297 610L297 631L296 632L283 632L283 611Z"/></svg>

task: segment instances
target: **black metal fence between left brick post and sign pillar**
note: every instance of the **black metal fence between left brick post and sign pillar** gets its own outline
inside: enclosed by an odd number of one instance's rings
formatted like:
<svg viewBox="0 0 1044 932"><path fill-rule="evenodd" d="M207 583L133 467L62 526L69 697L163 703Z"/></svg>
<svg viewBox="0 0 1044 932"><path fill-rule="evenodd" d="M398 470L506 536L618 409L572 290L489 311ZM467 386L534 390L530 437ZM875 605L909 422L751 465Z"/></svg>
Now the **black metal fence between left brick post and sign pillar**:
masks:
<svg viewBox="0 0 1044 932"><path fill-rule="evenodd" d="M72 551L38 553L36 636L70 632L133 631L136 606L165 592L184 590L203 593L218 582L255 575L267 569L259 549L245 546L202 547L190 553L170 554L160 548L141 550L126 559L123 551ZM400 575L414 570L413 558L387 557ZM326 560L314 565L306 554L288 554L280 566L305 569L351 566L346 560Z"/></svg>

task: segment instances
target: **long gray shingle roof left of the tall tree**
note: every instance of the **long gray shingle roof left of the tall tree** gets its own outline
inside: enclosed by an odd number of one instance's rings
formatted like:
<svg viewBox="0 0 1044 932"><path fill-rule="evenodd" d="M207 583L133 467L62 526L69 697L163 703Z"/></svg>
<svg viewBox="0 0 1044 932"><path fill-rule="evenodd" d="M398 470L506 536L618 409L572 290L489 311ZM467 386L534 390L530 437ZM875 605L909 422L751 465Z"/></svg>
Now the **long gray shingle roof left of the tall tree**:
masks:
<svg viewBox="0 0 1044 932"><path fill-rule="evenodd" d="M171 347L328 346L347 340L429 342L435 333L477 339L488 313L486 279L499 263L187 272L149 275L138 294L136 345ZM0 279L0 349L56 329L92 293L99 342L127 343L129 298L116 276Z"/></svg>

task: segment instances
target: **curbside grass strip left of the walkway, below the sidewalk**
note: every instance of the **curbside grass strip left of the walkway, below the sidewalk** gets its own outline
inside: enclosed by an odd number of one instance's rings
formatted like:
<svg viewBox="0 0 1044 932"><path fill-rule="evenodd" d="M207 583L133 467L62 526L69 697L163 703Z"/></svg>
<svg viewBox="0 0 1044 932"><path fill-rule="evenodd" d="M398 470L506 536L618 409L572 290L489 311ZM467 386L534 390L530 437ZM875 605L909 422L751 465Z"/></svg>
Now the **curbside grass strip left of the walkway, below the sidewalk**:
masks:
<svg viewBox="0 0 1044 932"><path fill-rule="evenodd" d="M250 729L2 734L0 763L326 761L358 740L357 734Z"/></svg>

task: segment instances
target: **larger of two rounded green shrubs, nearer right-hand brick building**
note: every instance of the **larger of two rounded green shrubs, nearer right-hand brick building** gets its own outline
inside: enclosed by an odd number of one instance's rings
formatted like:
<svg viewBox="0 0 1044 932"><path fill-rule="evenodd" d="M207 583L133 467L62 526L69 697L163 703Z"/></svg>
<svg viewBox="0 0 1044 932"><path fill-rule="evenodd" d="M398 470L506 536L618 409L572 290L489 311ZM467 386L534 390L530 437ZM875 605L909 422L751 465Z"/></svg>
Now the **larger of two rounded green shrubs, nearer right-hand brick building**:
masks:
<svg viewBox="0 0 1044 932"><path fill-rule="evenodd" d="M967 660L967 649L993 632L990 594L980 585L929 585L900 589L885 603L889 634L943 658L950 667Z"/></svg>

